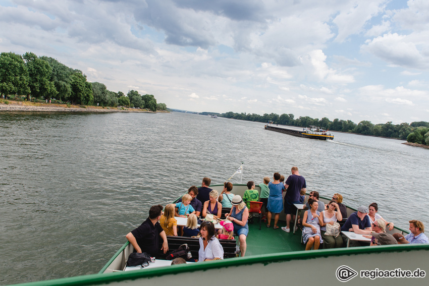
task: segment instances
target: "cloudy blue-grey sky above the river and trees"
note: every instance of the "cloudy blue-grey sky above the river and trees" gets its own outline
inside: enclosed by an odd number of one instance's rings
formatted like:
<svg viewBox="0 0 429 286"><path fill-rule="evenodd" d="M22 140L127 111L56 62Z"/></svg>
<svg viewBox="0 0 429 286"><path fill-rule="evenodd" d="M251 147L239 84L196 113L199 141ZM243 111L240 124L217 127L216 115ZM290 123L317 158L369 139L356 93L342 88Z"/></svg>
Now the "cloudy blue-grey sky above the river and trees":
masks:
<svg viewBox="0 0 429 286"><path fill-rule="evenodd" d="M427 0L0 0L0 51L169 108L429 121Z"/></svg>

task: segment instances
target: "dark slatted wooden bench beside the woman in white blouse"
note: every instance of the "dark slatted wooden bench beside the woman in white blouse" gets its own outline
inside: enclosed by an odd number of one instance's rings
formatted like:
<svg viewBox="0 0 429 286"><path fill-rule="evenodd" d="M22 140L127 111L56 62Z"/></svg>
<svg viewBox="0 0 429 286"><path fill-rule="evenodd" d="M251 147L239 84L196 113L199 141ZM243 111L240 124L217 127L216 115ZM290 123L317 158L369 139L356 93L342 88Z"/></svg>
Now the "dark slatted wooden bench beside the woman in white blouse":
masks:
<svg viewBox="0 0 429 286"><path fill-rule="evenodd" d="M198 259L198 250L199 250L199 239L198 238L189 238L189 237L173 237L168 236L167 241L169 244L169 251L178 249L182 244L188 244L189 251L192 254L192 258ZM237 241L236 240L226 240L220 239L224 249L224 258L231 258L237 256ZM159 241L159 249L163 245L163 240ZM166 255L163 253L158 254L157 259L166 259Z"/></svg>

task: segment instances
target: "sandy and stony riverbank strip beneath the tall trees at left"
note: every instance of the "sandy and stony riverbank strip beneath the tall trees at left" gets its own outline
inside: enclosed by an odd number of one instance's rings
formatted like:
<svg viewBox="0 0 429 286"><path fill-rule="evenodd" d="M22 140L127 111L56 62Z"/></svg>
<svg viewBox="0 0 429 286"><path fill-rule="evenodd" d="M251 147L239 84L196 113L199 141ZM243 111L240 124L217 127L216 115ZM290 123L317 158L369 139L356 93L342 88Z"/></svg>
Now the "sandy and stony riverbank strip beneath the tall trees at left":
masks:
<svg viewBox="0 0 429 286"><path fill-rule="evenodd" d="M27 101L0 101L0 111L18 111L18 112L147 112L155 113L146 109L101 107L90 105L67 105L55 103L37 103ZM165 112L165 111L157 111Z"/></svg>

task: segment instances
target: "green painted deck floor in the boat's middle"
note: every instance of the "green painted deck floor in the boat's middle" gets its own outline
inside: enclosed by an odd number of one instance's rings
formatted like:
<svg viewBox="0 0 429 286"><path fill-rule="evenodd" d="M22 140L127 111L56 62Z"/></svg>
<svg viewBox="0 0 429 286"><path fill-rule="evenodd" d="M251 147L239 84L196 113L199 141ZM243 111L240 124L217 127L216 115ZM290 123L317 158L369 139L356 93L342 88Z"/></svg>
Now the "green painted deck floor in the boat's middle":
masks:
<svg viewBox="0 0 429 286"><path fill-rule="evenodd" d="M301 231L299 228L294 235L292 232L286 233L282 231L281 228L274 230L273 225L274 220L270 228L267 228L266 223L262 221L261 230L259 231L257 218L254 219L253 224L249 223L246 256L305 250L305 246L301 245ZM279 226L284 225L286 225L286 222L279 221Z"/></svg>

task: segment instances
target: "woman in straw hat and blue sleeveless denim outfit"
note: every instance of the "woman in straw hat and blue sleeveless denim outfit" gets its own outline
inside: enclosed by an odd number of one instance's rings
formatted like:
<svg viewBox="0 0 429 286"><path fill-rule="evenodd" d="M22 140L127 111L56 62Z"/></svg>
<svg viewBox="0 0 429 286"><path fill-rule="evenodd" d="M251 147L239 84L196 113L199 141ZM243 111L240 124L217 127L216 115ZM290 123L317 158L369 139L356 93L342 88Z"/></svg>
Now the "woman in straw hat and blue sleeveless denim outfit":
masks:
<svg viewBox="0 0 429 286"><path fill-rule="evenodd" d="M238 235L240 240L241 256L244 256L247 248L246 238L249 233L249 226L247 225L249 209L246 207L246 203L243 202L243 199L239 195L234 196L231 204L231 212L225 214L225 216L234 224L234 233Z"/></svg>

